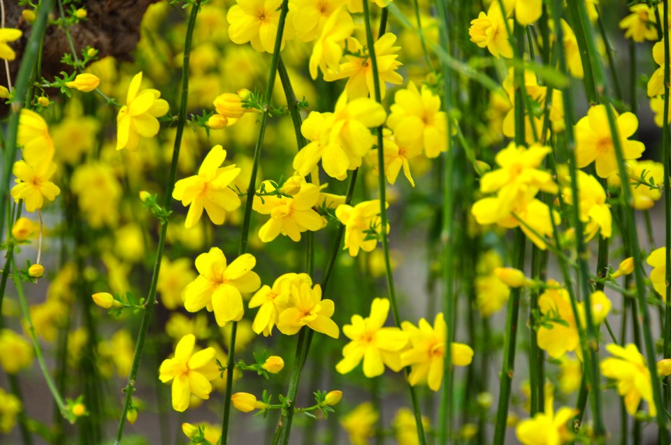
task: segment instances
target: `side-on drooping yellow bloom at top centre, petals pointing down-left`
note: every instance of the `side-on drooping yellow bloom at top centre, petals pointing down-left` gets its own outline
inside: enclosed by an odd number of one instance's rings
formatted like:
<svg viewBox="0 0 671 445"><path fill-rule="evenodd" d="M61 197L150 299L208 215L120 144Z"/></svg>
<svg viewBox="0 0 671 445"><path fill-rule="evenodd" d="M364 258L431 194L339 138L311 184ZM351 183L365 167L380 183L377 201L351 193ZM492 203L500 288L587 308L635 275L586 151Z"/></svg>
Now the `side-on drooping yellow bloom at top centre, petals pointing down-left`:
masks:
<svg viewBox="0 0 671 445"><path fill-rule="evenodd" d="M319 3L322 4L322 0L319 0ZM301 12L298 12L295 17L300 15ZM310 22L307 24L310 26ZM312 54L310 54L310 77L312 79L317 79L317 67L322 69L322 73L329 70L337 72L340 69L345 39L351 36L353 31L354 22L347 11L340 8L331 14L312 47Z"/></svg>

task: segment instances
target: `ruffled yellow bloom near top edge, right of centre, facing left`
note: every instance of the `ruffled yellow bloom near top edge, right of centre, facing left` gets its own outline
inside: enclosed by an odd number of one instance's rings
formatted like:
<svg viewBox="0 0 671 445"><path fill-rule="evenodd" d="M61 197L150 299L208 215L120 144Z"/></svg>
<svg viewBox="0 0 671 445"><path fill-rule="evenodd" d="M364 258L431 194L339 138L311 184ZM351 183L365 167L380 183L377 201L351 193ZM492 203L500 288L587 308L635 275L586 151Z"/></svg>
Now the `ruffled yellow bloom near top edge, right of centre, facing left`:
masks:
<svg viewBox="0 0 671 445"><path fill-rule="evenodd" d="M501 14L501 5L498 1L492 1L487 13L480 12L477 19L470 22L468 34L470 41L477 43L480 48L487 48L491 55L496 57L512 57L512 46L508 40L508 32ZM512 29L512 20L507 20L508 28Z"/></svg>

